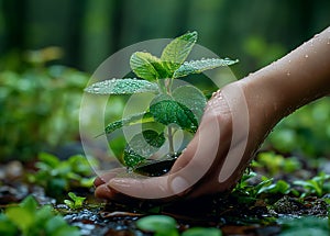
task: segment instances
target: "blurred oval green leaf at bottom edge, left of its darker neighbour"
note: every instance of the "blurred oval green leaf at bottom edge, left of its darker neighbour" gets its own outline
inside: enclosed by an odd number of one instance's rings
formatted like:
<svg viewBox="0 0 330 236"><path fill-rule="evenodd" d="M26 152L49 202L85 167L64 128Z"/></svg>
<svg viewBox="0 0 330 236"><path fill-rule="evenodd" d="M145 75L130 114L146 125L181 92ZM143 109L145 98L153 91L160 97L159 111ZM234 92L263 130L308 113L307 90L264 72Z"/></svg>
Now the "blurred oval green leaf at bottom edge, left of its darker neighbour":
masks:
<svg viewBox="0 0 330 236"><path fill-rule="evenodd" d="M136 226L155 235L177 236L176 221L167 215L148 215L136 221Z"/></svg>

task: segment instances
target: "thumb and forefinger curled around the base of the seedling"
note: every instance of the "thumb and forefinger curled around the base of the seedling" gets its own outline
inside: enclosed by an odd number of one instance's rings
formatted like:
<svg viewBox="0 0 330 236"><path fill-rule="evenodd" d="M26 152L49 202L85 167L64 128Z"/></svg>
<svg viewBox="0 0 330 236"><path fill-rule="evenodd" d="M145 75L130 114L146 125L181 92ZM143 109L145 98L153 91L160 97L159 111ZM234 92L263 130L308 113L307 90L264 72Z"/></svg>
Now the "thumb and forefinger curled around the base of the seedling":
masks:
<svg viewBox="0 0 330 236"><path fill-rule="evenodd" d="M152 178L111 178L107 186L138 199L167 199L187 194L208 172L218 154L218 117L206 115L200 127L168 175Z"/></svg>

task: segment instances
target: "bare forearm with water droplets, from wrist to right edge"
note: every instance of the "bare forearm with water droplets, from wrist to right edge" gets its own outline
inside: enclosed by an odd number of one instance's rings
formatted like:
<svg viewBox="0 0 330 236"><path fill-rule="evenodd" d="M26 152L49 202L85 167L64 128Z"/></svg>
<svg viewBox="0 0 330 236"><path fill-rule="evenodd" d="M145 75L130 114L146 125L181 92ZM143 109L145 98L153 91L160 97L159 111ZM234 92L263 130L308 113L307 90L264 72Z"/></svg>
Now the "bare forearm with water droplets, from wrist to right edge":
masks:
<svg viewBox="0 0 330 236"><path fill-rule="evenodd" d="M330 27L292 53L241 80L250 102L277 122L330 93ZM267 104L268 105L267 105Z"/></svg>

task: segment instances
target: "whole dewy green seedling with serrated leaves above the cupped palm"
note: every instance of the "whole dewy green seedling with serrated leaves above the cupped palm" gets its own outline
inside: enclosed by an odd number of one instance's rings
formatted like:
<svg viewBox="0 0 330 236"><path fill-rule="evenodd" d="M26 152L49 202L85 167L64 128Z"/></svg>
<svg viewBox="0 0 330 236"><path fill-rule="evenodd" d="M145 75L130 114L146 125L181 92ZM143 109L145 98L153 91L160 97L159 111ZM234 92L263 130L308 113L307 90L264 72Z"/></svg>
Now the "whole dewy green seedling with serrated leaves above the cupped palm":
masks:
<svg viewBox="0 0 330 236"><path fill-rule="evenodd" d="M175 133L182 130L195 134L197 131L207 99L193 86L174 86L175 79L238 61L228 58L185 61L196 41L197 32L186 33L166 45L161 57L146 52L135 52L130 58L130 66L139 79L111 79L85 89L86 92L97 94L155 94L146 111L106 126L106 134L135 124L146 127L128 141L123 155L118 157L129 169L144 171L148 158L164 144L168 144L168 155L160 165L164 165L164 161L166 164L178 156L174 147Z"/></svg>

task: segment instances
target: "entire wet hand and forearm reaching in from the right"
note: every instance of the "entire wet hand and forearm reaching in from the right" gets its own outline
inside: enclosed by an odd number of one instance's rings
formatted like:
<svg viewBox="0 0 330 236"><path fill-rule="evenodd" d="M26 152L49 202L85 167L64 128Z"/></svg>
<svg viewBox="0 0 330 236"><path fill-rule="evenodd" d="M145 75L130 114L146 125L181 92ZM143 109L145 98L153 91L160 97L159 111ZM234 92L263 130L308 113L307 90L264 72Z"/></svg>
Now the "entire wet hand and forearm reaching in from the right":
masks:
<svg viewBox="0 0 330 236"><path fill-rule="evenodd" d="M229 191L283 117L327 94L330 27L277 61L215 93L199 130L168 175L118 177L124 170L114 169L96 179L95 194L122 202L164 202Z"/></svg>

